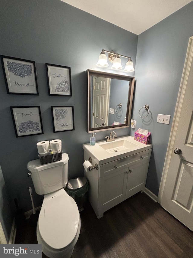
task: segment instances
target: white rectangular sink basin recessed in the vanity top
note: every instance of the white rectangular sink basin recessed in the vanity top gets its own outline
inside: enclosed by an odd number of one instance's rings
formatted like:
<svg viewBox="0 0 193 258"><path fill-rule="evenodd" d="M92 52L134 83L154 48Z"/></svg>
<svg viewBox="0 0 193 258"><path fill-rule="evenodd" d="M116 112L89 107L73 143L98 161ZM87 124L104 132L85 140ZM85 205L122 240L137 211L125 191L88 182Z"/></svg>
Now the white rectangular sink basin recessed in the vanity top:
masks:
<svg viewBox="0 0 193 258"><path fill-rule="evenodd" d="M123 150L132 150L136 148L138 145L129 142L127 140L120 140L120 141L114 141L114 142L106 142L103 144L100 144L100 147L102 147L104 150L106 150L109 153L115 153Z"/></svg>

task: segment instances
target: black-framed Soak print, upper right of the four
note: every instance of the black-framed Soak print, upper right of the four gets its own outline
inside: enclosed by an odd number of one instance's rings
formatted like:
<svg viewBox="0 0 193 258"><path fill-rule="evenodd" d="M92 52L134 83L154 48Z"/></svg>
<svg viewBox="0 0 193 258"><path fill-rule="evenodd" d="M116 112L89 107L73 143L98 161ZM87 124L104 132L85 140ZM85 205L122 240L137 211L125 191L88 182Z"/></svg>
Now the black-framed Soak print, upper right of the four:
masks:
<svg viewBox="0 0 193 258"><path fill-rule="evenodd" d="M46 74L49 95L72 96L70 67L46 64Z"/></svg>

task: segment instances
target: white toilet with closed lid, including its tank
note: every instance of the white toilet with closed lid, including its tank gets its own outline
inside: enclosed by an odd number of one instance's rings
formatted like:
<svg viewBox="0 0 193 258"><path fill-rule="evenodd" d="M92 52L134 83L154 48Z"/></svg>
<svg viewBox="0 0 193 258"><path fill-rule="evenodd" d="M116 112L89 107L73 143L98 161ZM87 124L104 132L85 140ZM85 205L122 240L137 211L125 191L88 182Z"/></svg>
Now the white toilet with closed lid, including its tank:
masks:
<svg viewBox="0 0 193 258"><path fill-rule="evenodd" d="M70 258L78 240L81 219L78 206L64 187L68 182L68 154L62 160L40 164L32 160L27 164L37 194L44 194L37 222L37 240L48 257Z"/></svg>

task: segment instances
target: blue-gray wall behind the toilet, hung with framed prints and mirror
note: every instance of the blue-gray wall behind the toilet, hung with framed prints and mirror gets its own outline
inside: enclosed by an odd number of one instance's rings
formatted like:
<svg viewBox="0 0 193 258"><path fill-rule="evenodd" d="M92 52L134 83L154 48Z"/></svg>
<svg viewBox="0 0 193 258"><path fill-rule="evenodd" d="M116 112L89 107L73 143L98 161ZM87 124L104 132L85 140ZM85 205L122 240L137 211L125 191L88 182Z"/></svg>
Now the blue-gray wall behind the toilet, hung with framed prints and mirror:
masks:
<svg viewBox="0 0 193 258"><path fill-rule="evenodd" d="M59 0L1 1L0 24L0 54L36 62L39 96L7 94L0 66L0 163L11 200L17 198L27 211L32 209L28 187L33 187L27 163L38 158L36 143L61 139L63 152L69 155L69 179L83 175L82 144L91 136L86 132L85 71L100 70L96 62L103 48L131 56L135 64L138 36ZM48 96L45 63L71 67L72 97ZM105 71L112 73L109 67ZM44 134L16 138L9 106L36 105L40 105ZM57 105L74 106L74 131L53 133L50 106ZM109 133L97 133L96 141L105 140ZM129 130L118 129L116 134L128 135ZM43 197L34 191L33 198L36 207L42 204Z"/></svg>

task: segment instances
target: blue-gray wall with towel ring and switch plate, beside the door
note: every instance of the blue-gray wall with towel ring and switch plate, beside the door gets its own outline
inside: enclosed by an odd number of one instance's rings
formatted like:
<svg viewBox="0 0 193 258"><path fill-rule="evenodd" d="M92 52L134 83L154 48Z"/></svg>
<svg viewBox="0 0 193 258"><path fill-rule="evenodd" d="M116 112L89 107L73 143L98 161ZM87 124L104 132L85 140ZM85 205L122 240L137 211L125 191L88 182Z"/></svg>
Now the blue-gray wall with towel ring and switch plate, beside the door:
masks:
<svg viewBox="0 0 193 258"><path fill-rule="evenodd" d="M193 35L192 24L193 2L138 36L133 118L137 120L137 129L147 129L152 133L153 153L146 187L156 195L159 191L188 40ZM150 114L141 119L138 111L145 104L150 106ZM170 124L157 123L157 114L171 115ZM143 116L145 115L146 112L143 113ZM131 130L132 136L134 131Z"/></svg>

